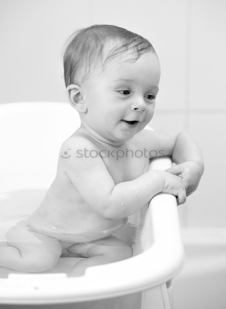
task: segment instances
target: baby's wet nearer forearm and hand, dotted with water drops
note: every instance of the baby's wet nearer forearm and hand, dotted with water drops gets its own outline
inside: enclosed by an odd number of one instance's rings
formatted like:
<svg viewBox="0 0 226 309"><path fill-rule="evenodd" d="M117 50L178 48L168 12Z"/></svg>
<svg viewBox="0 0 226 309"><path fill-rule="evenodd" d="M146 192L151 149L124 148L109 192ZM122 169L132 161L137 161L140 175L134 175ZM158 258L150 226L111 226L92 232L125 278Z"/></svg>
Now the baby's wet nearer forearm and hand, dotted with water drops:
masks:
<svg viewBox="0 0 226 309"><path fill-rule="evenodd" d="M178 205L186 201L184 185L177 176L166 171L148 171L132 181L114 186L110 196L111 207L108 207L105 215L114 218L118 214L120 216L123 213L126 216L134 214L158 193L174 195ZM124 212L121 211L123 207L125 207Z"/></svg>

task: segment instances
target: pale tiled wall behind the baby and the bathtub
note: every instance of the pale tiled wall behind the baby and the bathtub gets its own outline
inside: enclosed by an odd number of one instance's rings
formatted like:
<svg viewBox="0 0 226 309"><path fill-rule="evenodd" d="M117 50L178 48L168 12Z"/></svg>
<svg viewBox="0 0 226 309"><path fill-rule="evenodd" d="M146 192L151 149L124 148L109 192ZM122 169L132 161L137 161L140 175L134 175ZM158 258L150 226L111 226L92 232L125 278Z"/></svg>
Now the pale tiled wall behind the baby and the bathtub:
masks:
<svg viewBox="0 0 226 309"><path fill-rule="evenodd" d="M151 126L191 133L205 160L198 190L179 206L181 223L226 227L225 16L224 0L1 0L0 103L67 101L61 51L76 28L141 34L162 71Z"/></svg>

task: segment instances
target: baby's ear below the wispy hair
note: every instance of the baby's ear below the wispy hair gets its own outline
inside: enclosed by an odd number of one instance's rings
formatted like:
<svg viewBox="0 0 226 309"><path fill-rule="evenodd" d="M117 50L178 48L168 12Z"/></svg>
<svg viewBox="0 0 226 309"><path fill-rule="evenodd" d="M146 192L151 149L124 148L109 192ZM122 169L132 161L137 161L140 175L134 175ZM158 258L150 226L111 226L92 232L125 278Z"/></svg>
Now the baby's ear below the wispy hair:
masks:
<svg viewBox="0 0 226 309"><path fill-rule="evenodd" d="M66 88L68 100L73 108L75 108L80 113L87 112L87 107L83 101L81 87L79 85L69 85Z"/></svg>

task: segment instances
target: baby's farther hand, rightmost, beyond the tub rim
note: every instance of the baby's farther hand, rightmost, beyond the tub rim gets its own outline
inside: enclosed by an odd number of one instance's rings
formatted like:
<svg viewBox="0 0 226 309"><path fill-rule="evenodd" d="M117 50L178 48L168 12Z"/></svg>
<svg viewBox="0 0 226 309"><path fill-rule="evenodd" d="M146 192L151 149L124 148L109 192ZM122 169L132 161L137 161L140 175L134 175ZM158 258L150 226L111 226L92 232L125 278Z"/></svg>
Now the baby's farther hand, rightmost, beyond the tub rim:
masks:
<svg viewBox="0 0 226 309"><path fill-rule="evenodd" d="M196 190L203 175L203 168L194 161L183 162L168 168L166 171L181 178L187 196Z"/></svg>

